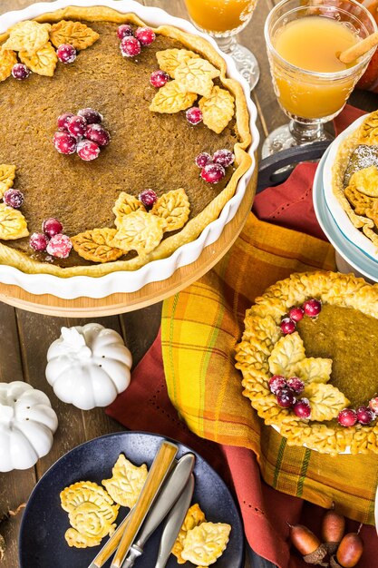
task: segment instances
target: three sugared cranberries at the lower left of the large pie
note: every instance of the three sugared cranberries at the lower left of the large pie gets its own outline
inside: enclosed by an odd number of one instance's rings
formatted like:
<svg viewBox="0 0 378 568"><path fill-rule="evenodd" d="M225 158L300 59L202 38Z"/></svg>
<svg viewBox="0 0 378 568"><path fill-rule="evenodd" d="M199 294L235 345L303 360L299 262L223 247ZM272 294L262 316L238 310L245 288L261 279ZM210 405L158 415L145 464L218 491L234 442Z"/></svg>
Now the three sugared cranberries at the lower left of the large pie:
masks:
<svg viewBox="0 0 378 568"><path fill-rule="evenodd" d="M67 235L63 235L63 225L60 220L50 219L44 220L42 223L43 232L34 232L30 236L29 245L32 249L39 252L46 251L52 257L57 259L66 259L73 243Z"/></svg>

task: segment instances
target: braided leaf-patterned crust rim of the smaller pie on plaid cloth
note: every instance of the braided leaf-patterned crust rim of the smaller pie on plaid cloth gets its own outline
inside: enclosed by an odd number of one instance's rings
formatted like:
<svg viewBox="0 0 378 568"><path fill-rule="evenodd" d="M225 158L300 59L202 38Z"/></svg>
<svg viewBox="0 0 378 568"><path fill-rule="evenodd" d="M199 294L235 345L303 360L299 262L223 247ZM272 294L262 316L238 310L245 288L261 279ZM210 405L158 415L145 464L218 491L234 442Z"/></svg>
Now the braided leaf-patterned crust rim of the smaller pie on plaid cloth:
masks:
<svg viewBox="0 0 378 568"><path fill-rule="evenodd" d="M349 427L339 425L336 419L321 422L311 420L310 416L309 420L304 420L278 406L276 396L269 390L268 380L272 374L268 359L283 337L279 327L281 319L290 308L309 298L320 299L331 306L354 308L378 318L378 285L367 284L351 274L305 272L276 282L246 313L245 330L236 353L236 367L243 375L243 395L249 398L267 425L276 426L287 438L288 446L306 446L334 455L378 453L377 420L371 426Z"/></svg>

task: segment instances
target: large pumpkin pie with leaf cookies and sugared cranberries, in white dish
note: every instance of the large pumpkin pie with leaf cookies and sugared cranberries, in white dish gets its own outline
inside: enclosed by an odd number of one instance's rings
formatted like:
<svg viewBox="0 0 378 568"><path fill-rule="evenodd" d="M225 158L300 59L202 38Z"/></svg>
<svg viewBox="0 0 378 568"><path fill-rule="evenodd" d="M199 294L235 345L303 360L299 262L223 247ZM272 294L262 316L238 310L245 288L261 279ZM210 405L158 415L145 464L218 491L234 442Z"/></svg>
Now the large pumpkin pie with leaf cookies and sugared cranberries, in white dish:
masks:
<svg viewBox="0 0 378 568"><path fill-rule="evenodd" d="M245 96L218 52L104 6L0 35L0 114L0 262L24 272L102 276L168 257L251 165Z"/></svg>

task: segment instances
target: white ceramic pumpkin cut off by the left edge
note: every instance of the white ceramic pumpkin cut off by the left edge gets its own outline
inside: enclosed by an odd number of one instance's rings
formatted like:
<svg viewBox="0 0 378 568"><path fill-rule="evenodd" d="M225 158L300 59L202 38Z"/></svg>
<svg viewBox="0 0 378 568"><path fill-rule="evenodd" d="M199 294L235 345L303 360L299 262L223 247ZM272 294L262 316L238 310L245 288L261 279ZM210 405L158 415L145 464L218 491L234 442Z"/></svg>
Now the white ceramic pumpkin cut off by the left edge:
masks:
<svg viewBox="0 0 378 568"><path fill-rule="evenodd" d="M41 390L22 381L0 383L0 472L32 467L49 453L57 427Z"/></svg>

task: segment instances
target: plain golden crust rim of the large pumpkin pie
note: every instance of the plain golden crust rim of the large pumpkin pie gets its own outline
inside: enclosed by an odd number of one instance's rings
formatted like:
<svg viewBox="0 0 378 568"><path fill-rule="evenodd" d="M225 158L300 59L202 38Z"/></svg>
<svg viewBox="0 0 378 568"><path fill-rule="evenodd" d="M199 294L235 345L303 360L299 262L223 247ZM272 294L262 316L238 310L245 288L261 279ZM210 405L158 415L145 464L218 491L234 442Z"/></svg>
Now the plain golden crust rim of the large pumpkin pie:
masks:
<svg viewBox="0 0 378 568"><path fill-rule="evenodd" d="M134 14L121 14L111 8L105 6L89 6L75 7L68 6L55 12L41 15L35 20L40 23L59 22L61 20L82 20L86 22L107 21L116 24L130 23L134 25L146 25L141 19ZM247 111L247 102L242 87L237 81L226 76L227 66L224 59L218 54L211 44L202 37L187 34L179 28L164 25L159 28L153 28L156 34L162 34L178 40L181 44L199 53L208 61L215 65L219 71L219 81L222 83L235 98L235 120L238 141L234 146L236 157L236 170L228 181L228 185L218 193L218 196L208 203L208 205L199 212L196 217L189 220L188 223L176 234L162 240L155 250L152 250L146 256L137 256L130 260L117 260L113 262L105 262L103 264L94 264L91 266L73 266L62 268L57 265L36 261L22 251L15 250L4 243L0 243L0 263L13 266L27 273L44 273L53 274L58 277L67 278L72 276L92 276L100 277L113 271L118 270L136 270L152 260L160 260L170 256L172 252L180 246L195 240L205 227L213 220L216 220L237 189L237 182L241 176L251 166L251 157L247 154L247 148L251 143L251 134L249 131L249 113ZM4 43L8 34L0 34L0 44ZM83 54L85 56L85 54ZM91 221L88 220L88 230L92 229Z"/></svg>

